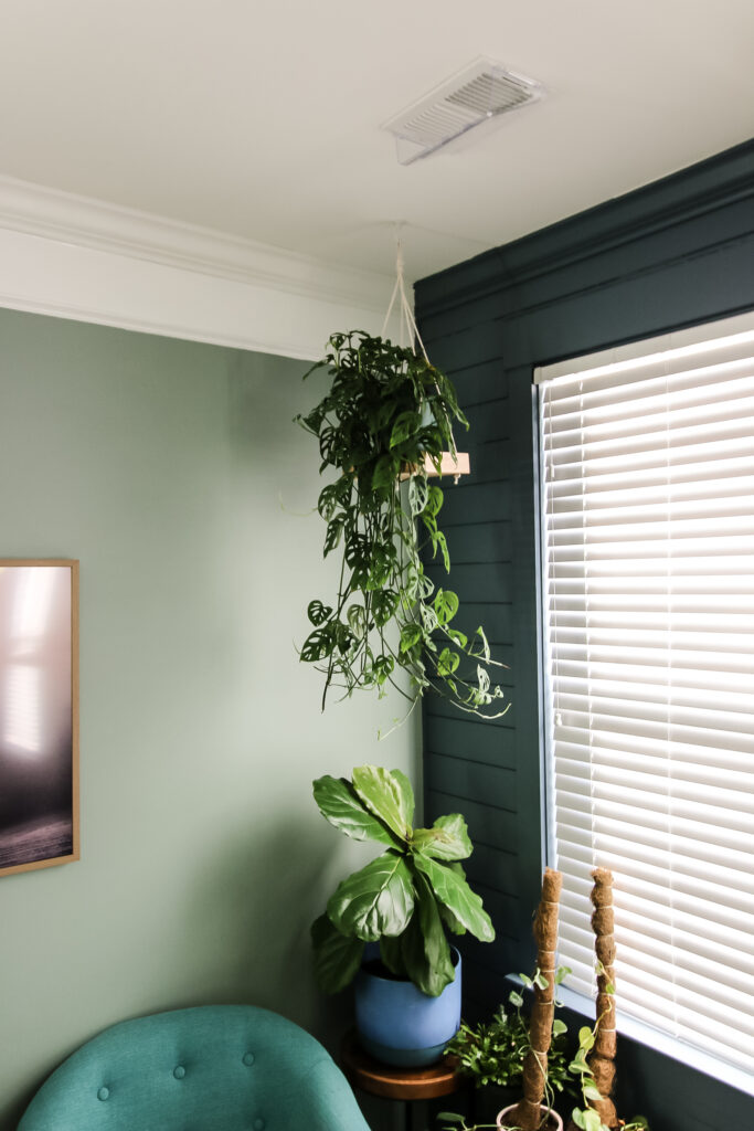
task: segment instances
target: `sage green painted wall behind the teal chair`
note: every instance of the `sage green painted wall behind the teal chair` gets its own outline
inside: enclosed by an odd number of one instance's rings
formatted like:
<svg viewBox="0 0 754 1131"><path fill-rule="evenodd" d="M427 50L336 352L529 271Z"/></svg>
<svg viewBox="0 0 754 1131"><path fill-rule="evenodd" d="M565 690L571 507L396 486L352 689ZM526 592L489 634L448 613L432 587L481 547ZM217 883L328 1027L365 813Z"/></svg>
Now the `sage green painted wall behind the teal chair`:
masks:
<svg viewBox="0 0 754 1131"><path fill-rule="evenodd" d="M359 858L311 779L416 770L392 706L320 714L302 362L0 311L0 556L81 562L81 861L0 878L0 1129L113 1021L250 1001L314 1031L307 927ZM321 389L321 383L319 386ZM395 705L396 707L398 705Z"/></svg>

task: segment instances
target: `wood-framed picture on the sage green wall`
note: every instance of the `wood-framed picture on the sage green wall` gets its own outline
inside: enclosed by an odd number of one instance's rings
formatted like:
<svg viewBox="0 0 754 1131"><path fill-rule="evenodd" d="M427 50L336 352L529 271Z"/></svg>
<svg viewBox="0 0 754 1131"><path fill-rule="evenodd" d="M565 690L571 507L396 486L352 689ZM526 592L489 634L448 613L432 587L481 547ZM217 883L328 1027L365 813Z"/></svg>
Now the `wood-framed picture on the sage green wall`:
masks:
<svg viewBox="0 0 754 1131"><path fill-rule="evenodd" d="M0 559L0 875L78 858L78 562Z"/></svg>

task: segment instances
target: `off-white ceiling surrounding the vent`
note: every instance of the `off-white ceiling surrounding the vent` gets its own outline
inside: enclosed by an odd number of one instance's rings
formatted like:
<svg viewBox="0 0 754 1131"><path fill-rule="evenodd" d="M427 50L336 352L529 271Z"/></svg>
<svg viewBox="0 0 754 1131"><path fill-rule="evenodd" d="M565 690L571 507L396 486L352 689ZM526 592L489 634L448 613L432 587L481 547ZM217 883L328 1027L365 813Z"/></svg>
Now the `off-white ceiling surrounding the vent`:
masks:
<svg viewBox="0 0 754 1131"><path fill-rule="evenodd" d="M544 102L401 166L479 55ZM422 277L746 140L753 0L2 0L0 174Z"/></svg>

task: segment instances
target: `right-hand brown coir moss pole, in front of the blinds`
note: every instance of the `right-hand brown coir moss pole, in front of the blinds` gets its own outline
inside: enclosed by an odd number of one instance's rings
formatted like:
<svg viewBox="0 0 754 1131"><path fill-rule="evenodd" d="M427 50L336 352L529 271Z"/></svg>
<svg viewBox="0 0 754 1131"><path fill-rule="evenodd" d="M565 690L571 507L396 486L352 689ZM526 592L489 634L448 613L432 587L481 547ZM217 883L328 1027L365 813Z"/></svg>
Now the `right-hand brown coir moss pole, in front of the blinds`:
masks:
<svg viewBox="0 0 754 1131"><path fill-rule="evenodd" d="M591 901L595 910L591 925L595 932L595 952L597 955L597 1037L595 1047L587 1063L591 1070L595 1083L603 1097L592 1106L599 1113L603 1123L608 1128L618 1125L615 1105L610 1099L615 1081L615 913L613 910L613 873L606 867L597 867L591 873L595 884L591 889Z"/></svg>

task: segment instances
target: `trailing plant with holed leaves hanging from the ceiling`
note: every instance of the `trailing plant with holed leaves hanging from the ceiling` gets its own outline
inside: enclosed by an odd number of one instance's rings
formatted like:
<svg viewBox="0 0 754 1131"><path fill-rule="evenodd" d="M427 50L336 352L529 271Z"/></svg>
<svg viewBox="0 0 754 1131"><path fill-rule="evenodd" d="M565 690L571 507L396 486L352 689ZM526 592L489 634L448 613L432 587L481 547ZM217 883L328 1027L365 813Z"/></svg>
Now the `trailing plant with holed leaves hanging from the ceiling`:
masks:
<svg viewBox="0 0 754 1131"><path fill-rule="evenodd" d="M480 627L470 637L452 627L458 596L424 568L426 555L450 570L437 525L443 492L427 467L439 474L443 450L456 452L453 421L468 428L451 382L426 357L362 331L333 334L305 377L321 369L330 390L296 421L319 441L320 474L336 473L318 510L324 556L340 553L340 580L330 603L310 602L301 649L324 674L322 709L331 687L345 698L362 688L382 696L391 684L411 706L435 691L461 710L500 717L503 691L489 667L503 665ZM396 679L401 668L408 691Z"/></svg>

